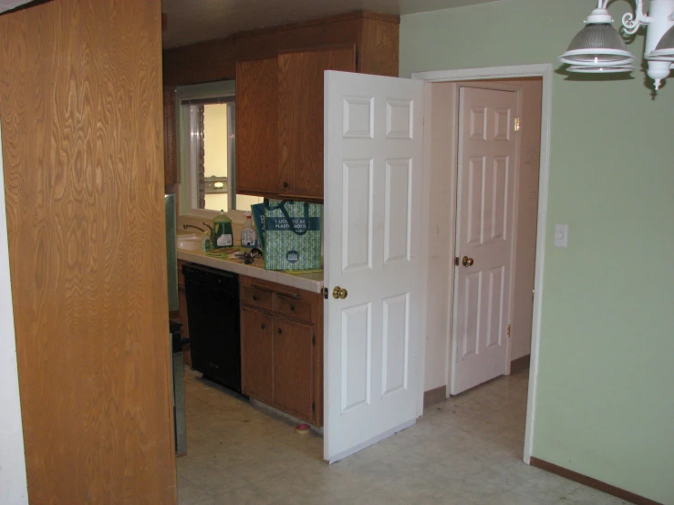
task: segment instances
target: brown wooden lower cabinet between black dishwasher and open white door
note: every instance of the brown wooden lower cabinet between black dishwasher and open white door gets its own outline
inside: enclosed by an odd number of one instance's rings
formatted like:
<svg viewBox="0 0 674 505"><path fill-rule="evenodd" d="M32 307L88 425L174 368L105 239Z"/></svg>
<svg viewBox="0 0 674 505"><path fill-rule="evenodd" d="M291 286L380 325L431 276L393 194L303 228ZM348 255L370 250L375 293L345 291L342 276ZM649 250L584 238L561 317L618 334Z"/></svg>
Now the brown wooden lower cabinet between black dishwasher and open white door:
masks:
<svg viewBox="0 0 674 505"><path fill-rule="evenodd" d="M323 426L323 298L242 276L244 395Z"/></svg>

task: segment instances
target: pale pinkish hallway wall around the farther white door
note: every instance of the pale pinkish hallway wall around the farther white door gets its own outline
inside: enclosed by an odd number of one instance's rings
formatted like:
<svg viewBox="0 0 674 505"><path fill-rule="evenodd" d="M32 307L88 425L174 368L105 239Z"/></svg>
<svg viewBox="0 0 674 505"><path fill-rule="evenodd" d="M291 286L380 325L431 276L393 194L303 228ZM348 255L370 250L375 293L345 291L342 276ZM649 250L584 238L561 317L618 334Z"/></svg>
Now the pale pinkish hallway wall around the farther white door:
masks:
<svg viewBox="0 0 674 505"><path fill-rule="evenodd" d="M522 137L520 167L517 180L516 263L513 271L513 317L511 319L511 356L527 356L531 349L532 290L538 203L538 171L540 169L541 98L540 78L496 81L473 81L480 88L523 88ZM454 258L454 227L458 137L458 84L427 84L430 103L425 109L425 156L430 167L427 175L429 195L428 231L428 312L426 316L426 349L424 391L448 384L451 366L451 307ZM430 135L428 135L430 134Z"/></svg>

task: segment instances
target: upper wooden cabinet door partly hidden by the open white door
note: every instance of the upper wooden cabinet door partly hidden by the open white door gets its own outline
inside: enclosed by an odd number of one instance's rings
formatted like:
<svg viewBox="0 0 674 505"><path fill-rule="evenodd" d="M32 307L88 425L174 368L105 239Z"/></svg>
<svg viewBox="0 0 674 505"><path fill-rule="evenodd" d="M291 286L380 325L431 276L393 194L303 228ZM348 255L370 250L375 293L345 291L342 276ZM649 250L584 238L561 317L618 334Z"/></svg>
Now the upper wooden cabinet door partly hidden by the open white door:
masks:
<svg viewBox="0 0 674 505"><path fill-rule="evenodd" d="M285 53L279 55L278 66L278 192L322 201L323 72L355 72L356 49Z"/></svg>

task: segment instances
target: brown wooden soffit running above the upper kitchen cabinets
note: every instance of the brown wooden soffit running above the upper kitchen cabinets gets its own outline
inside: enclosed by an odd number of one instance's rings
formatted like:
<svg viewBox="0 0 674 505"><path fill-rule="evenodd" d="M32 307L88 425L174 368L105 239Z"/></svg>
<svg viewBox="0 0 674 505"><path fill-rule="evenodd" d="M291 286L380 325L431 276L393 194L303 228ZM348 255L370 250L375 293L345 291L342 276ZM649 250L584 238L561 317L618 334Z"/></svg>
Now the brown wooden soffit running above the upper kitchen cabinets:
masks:
<svg viewBox="0 0 674 505"><path fill-rule="evenodd" d="M164 84L181 86L233 79L237 61L347 43L358 44L368 55L365 67L358 71L398 76L399 23L397 15L354 12L167 49L163 53ZM374 44L369 42L371 36L375 37ZM389 59L378 61L382 58Z"/></svg>

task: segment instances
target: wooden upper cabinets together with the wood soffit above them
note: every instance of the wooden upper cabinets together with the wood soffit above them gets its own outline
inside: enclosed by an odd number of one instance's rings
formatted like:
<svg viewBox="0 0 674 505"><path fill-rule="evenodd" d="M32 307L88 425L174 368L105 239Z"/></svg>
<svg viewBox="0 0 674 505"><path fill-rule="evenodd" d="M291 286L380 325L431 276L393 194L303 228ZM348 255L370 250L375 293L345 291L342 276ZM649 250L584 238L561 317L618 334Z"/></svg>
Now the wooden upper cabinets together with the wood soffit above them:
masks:
<svg viewBox="0 0 674 505"><path fill-rule="evenodd" d="M219 65L197 65L204 52ZM322 202L323 73L398 76L399 17L347 13L169 49L164 78L231 78L234 60L236 191Z"/></svg>

